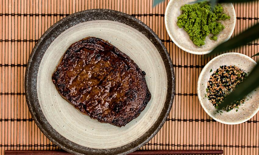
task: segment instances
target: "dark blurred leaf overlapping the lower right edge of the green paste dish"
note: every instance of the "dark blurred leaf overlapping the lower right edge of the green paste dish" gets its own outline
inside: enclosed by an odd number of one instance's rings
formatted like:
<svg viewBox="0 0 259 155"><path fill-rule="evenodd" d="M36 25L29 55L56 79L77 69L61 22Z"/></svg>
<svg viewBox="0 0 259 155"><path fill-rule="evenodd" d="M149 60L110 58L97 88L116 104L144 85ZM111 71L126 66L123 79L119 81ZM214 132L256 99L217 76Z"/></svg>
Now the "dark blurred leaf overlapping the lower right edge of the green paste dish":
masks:
<svg viewBox="0 0 259 155"><path fill-rule="evenodd" d="M217 54L233 48L245 45L255 39L259 38L259 23L248 28L243 33L237 35L236 37L218 45L214 50L211 51L208 55Z"/></svg>

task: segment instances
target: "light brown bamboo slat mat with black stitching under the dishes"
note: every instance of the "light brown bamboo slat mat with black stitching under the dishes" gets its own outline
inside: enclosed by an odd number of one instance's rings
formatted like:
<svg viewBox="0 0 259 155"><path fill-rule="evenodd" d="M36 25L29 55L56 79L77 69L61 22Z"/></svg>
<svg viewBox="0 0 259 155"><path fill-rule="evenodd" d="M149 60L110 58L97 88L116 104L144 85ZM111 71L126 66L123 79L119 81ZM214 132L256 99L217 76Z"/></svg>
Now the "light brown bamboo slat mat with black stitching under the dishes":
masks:
<svg viewBox="0 0 259 155"><path fill-rule="evenodd" d="M239 125L212 120L197 97L200 71L212 57L193 55L170 40L164 25L169 0L152 8L149 0L1 0L0 1L0 152L59 149L37 128L24 94L26 63L35 43L55 22L85 9L114 9L151 27L165 43L176 75L176 96L164 126L141 149L222 149L224 154L259 154L259 113ZM259 2L234 4L236 27L243 32L258 22ZM233 50L248 56L259 51L258 40ZM256 58L254 58L256 59Z"/></svg>

